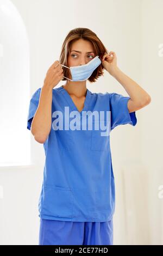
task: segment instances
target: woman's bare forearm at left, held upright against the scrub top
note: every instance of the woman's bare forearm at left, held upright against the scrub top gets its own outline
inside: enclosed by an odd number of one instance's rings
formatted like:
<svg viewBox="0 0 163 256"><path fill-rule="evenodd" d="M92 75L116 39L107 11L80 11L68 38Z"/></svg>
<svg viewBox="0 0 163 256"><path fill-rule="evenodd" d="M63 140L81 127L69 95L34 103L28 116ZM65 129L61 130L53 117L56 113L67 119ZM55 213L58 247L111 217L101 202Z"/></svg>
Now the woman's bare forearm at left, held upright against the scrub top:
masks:
<svg viewBox="0 0 163 256"><path fill-rule="evenodd" d="M52 88L43 85L40 93L39 106L32 121L31 132L35 140L39 143L44 143L51 131L52 93Z"/></svg>

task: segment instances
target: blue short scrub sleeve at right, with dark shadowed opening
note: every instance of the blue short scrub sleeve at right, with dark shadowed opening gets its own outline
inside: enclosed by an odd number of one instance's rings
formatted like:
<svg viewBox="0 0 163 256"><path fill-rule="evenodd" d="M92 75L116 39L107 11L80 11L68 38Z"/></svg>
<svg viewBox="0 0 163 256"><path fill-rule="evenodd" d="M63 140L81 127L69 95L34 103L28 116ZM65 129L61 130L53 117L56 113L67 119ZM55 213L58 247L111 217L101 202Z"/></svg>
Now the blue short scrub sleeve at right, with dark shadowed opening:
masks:
<svg viewBox="0 0 163 256"><path fill-rule="evenodd" d="M129 113L127 103L129 96L117 93L109 93L111 111L111 130L118 125L130 124L135 126L137 123L135 111Z"/></svg>

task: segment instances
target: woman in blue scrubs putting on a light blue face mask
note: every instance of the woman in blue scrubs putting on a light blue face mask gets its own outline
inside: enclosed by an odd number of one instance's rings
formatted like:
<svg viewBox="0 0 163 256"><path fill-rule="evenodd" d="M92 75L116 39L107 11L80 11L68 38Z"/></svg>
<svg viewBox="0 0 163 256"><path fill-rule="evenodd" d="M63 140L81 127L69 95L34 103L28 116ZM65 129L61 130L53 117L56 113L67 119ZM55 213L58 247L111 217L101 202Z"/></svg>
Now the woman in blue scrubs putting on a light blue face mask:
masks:
<svg viewBox="0 0 163 256"><path fill-rule="evenodd" d="M86 88L86 81L96 82L104 69L129 96ZM55 88L60 81L65 85ZM29 105L27 128L46 155L39 245L113 244L115 183L108 130L135 126L135 111L150 101L117 67L115 52L108 52L95 33L75 28L67 34L60 61L49 68Z"/></svg>

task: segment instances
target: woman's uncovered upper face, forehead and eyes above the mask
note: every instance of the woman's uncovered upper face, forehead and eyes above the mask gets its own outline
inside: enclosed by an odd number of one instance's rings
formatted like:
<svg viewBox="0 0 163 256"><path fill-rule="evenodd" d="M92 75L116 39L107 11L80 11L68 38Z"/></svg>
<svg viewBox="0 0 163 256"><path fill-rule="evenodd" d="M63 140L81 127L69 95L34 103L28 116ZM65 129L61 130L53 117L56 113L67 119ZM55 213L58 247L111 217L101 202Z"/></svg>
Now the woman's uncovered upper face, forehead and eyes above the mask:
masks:
<svg viewBox="0 0 163 256"><path fill-rule="evenodd" d="M70 50L70 55L67 56L68 67L87 64L96 57L91 42L84 39L73 42Z"/></svg>

